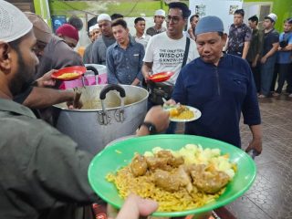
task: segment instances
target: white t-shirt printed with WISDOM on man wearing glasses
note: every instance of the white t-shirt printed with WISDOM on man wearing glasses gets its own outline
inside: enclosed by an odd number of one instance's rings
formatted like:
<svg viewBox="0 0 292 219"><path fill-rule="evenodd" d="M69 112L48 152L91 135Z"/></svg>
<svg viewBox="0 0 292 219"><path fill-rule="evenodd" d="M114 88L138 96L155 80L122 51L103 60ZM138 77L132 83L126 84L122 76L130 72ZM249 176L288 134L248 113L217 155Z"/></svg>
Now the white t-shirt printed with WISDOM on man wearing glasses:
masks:
<svg viewBox="0 0 292 219"><path fill-rule="evenodd" d="M183 64L183 55L186 44L186 36L181 39L172 39L166 32L151 37L148 42L144 62L152 62L152 72L157 74L163 71L173 71L174 75L165 84L174 85ZM191 39L189 55L186 63L199 57L195 42Z"/></svg>

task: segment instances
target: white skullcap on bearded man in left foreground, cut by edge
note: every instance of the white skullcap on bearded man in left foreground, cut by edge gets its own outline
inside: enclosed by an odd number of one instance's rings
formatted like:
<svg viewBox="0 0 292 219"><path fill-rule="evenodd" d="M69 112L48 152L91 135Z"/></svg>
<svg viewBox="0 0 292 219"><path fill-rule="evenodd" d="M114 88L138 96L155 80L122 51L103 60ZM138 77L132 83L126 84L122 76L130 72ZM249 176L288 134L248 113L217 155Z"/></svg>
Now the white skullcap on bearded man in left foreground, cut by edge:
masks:
<svg viewBox="0 0 292 219"><path fill-rule="evenodd" d="M15 41L32 28L33 24L15 5L0 0L0 41Z"/></svg>

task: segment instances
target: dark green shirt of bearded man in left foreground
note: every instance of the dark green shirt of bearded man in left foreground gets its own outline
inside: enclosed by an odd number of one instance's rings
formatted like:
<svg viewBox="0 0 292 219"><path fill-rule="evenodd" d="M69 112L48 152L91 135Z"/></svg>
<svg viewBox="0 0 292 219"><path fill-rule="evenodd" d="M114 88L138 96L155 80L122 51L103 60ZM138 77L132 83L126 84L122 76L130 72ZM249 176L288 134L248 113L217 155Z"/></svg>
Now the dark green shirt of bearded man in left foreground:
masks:
<svg viewBox="0 0 292 219"><path fill-rule="evenodd" d="M78 206L99 200L91 159L28 108L0 99L0 218L78 218Z"/></svg>

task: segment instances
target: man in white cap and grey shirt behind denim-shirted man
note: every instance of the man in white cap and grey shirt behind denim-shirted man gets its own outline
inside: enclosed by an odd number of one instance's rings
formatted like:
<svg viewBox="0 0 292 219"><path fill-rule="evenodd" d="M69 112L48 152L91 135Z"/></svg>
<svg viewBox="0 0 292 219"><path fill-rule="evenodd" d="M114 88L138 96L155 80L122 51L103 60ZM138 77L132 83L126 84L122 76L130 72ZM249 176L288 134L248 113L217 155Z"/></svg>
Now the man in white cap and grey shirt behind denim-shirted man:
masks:
<svg viewBox="0 0 292 219"><path fill-rule="evenodd" d="M100 14L98 16L98 24L101 36L94 42L92 46L92 63L106 65L107 49L116 42L111 30L111 18L108 14Z"/></svg>

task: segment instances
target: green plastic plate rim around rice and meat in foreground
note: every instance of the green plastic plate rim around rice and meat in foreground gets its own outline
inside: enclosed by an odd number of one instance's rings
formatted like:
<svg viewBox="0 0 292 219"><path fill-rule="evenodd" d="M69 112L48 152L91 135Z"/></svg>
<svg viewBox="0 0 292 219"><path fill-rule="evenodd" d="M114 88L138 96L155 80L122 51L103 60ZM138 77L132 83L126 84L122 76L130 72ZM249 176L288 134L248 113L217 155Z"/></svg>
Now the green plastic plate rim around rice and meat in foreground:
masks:
<svg viewBox="0 0 292 219"><path fill-rule="evenodd" d="M107 203L120 208L124 200L120 198L113 183L105 177L109 172L116 172L127 165L133 158L134 152L151 151L154 147L177 151L184 145L201 144L203 148L218 148L222 153L229 153L231 162L237 163L237 172L231 183L228 183L225 192L214 202L207 203L200 208L181 212L155 212L154 216L174 217L189 214L209 212L227 203L235 201L243 195L255 181L255 162L251 157L235 146L223 141L216 141L193 135L150 135L114 142L94 157L89 165L89 183L93 190Z"/></svg>

